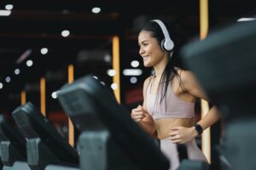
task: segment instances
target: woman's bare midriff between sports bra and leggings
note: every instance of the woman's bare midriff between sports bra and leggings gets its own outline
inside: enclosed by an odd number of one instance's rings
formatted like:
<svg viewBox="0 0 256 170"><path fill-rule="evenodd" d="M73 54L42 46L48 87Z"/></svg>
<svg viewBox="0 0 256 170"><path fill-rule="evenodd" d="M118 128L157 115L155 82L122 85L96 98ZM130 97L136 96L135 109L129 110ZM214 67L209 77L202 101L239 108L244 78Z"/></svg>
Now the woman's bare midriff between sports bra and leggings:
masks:
<svg viewBox="0 0 256 170"><path fill-rule="evenodd" d="M172 127L192 127L194 118L165 118L154 120L158 139L166 139L172 131Z"/></svg>

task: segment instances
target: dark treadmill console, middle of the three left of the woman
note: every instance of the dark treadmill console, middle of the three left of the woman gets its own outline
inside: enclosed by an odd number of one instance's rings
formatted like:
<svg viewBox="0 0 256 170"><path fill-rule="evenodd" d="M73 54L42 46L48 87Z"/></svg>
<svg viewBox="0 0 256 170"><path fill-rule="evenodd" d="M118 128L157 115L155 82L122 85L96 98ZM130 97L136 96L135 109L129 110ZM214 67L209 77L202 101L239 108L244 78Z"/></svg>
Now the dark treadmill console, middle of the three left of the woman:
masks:
<svg viewBox="0 0 256 170"><path fill-rule="evenodd" d="M31 102L16 108L12 116L26 138L27 163L32 170L44 169L49 164L79 165L77 151Z"/></svg>

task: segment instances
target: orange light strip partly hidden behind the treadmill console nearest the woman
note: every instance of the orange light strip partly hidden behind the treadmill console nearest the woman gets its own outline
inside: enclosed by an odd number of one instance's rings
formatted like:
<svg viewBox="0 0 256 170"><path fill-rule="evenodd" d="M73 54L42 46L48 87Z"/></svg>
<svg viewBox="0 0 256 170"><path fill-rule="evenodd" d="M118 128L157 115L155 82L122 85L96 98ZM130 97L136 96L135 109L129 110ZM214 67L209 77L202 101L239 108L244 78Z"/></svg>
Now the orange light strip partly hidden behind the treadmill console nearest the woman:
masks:
<svg viewBox="0 0 256 170"><path fill-rule="evenodd" d="M68 83L73 82L73 65L68 65ZM72 146L74 146L74 128L73 128L73 122L71 119L68 117L68 143Z"/></svg>

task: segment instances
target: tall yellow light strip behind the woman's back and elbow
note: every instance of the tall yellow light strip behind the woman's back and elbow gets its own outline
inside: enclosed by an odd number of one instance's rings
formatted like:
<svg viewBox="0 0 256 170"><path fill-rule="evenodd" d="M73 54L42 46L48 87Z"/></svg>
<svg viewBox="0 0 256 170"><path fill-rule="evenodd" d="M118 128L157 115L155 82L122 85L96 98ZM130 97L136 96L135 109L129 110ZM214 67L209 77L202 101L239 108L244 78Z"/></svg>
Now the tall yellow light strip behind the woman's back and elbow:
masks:
<svg viewBox="0 0 256 170"><path fill-rule="evenodd" d="M208 0L200 0L200 38L207 37L209 29ZM201 117L206 116L209 105L206 100L201 99ZM208 127L201 135L201 150L211 163L211 128Z"/></svg>

